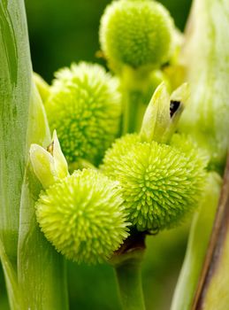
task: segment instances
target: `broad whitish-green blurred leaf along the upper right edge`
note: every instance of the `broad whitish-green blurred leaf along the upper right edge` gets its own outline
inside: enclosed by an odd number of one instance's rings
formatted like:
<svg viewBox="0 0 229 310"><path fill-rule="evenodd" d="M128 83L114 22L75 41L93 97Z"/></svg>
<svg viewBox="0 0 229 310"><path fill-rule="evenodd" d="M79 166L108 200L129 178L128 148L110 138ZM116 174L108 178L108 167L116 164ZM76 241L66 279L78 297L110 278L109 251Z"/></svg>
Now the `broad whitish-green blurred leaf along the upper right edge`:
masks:
<svg viewBox="0 0 229 310"><path fill-rule="evenodd" d="M228 0L195 0L180 59L191 98L179 129L209 151L213 169L222 170L229 144L228 16Z"/></svg>

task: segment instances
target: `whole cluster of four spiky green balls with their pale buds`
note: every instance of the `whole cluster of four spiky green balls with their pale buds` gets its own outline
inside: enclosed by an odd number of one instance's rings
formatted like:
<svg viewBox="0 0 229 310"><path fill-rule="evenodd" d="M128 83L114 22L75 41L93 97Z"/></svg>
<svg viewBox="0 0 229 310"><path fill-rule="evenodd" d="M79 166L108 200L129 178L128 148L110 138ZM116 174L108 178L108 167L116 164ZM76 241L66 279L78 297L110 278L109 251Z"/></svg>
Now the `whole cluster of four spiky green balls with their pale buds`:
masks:
<svg viewBox="0 0 229 310"><path fill-rule="evenodd" d="M130 227L170 229L201 200L210 155L188 135L174 135L187 105L187 84L170 95L162 83L143 113L141 130L121 136L124 73L135 72L131 83L137 85L142 73L160 69L172 58L175 34L161 4L118 0L108 5L100 27L103 53L118 76L80 63L59 70L50 88L36 77L65 154L57 136L52 151L31 147L34 173L44 187L37 220L68 259L108 260ZM134 113L134 105L129 108Z"/></svg>

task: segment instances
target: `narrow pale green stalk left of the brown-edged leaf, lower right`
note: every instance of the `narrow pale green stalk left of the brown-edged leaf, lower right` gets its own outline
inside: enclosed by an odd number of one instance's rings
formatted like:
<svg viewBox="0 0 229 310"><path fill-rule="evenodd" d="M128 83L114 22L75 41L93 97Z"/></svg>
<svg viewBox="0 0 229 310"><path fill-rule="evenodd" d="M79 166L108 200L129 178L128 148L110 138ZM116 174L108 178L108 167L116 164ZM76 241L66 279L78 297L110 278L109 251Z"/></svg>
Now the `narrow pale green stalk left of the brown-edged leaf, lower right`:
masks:
<svg viewBox="0 0 229 310"><path fill-rule="evenodd" d="M172 310L190 310L202 274L211 230L217 212L222 180L216 173L208 176L198 212L195 213L187 243L186 257L172 299Z"/></svg>

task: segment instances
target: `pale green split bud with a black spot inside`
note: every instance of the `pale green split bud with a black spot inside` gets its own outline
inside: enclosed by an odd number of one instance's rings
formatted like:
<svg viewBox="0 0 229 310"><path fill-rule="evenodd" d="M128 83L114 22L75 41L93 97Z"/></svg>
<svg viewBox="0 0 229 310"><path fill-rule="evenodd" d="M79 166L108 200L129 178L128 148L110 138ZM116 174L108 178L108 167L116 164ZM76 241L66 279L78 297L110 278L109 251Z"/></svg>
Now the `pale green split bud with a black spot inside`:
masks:
<svg viewBox="0 0 229 310"><path fill-rule="evenodd" d="M141 140L168 143L184 106L189 97L187 83L182 84L170 96L164 83L161 83L144 114L141 126Z"/></svg>

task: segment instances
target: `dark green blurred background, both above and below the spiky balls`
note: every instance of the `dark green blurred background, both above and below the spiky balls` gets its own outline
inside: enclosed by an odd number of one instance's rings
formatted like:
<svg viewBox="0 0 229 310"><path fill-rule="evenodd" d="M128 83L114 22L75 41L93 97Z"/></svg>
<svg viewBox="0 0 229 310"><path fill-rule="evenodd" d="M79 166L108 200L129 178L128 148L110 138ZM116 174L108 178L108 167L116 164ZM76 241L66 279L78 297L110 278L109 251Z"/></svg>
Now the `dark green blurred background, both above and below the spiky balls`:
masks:
<svg viewBox="0 0 229 310"><path fill-rule="evenodd" d="M176 26L184 29L191 0L161 1ZM61 66L73 61L102 62L98 27L108 0L27 0L27 20L34 71L50 82ZM102 62L103 63L103 62ZM187 242L187 225L148 238L142 268L147 310L168 310ZM68 264L71 310L119 310L110 266ZM0 270L0 309L7 310L4 277ZM54 310L54 309L42 309Z"/></svg>

